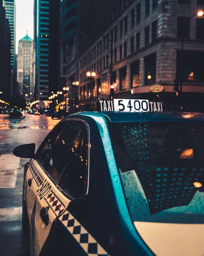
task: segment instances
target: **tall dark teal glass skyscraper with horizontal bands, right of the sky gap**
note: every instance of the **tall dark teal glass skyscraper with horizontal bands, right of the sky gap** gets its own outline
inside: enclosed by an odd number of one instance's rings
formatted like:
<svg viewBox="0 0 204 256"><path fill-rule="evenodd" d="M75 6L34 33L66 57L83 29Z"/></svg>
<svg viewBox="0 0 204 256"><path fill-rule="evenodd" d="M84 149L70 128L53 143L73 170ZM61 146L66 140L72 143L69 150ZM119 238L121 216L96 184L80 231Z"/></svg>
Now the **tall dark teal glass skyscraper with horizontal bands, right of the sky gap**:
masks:
<svg viewBox="0 0 204 256"><path fill-rule="evenodd" d="M34 1L35 98L40 107L58 86L60 6L60 0Z"/></svg>

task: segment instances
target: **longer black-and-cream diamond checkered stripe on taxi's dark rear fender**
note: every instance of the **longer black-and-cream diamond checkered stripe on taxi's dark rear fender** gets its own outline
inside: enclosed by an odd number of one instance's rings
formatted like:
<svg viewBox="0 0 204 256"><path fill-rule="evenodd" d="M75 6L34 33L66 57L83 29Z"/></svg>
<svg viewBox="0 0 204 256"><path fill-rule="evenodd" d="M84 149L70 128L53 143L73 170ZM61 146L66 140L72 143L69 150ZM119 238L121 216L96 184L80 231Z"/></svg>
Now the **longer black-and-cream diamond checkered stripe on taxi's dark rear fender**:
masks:
<svg viewBox="0 0 204 256"><path fill-rule="evenodd" d="M81 226L81 224L66 210L60 216L60 221L70 231L72 236L80 243L89 256L109 256L96 240Z"/></svg>

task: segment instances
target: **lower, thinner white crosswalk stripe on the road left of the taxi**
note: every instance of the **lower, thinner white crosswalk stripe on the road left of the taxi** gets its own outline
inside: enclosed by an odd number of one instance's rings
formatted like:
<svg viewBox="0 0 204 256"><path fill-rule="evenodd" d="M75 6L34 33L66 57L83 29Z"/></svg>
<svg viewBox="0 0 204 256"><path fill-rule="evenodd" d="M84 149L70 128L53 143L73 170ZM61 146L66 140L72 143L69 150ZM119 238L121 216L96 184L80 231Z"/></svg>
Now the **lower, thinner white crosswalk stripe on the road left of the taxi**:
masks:
<svg viewBox="0 0 204 256"><path fill-rule="evenodd" d="M0 222L20 221L22 219L22 207L0 208Z"/></svg>

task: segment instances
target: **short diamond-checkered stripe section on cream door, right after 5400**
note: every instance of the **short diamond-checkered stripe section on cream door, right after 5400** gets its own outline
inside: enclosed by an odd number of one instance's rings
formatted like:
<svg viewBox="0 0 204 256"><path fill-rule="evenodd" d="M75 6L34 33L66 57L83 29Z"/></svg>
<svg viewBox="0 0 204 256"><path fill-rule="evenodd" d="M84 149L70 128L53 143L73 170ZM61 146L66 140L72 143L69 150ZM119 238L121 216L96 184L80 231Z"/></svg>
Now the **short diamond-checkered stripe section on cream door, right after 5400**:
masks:
<svg viewBox="0 0 204 256"><path fill-rule="evenodd" d="M52 211L56 216L59 216L64 210L65 205L60 201L60 199L52 192L45 197L45 201L49 204Z"/></svg>

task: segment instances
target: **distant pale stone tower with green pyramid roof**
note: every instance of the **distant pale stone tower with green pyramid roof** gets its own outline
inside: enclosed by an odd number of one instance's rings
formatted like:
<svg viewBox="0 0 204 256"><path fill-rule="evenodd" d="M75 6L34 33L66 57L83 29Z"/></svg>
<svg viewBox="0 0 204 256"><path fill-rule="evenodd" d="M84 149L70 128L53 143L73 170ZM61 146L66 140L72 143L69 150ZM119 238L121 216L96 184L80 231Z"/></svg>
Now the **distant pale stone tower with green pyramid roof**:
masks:
<svg viewBox="0 0 204 256"><path fill-rule="evenodd" d="M33 40L26 35L19 40L17 58L17 82L19 95L26 101L32 101L34 88L32 86Z"/></svg>

